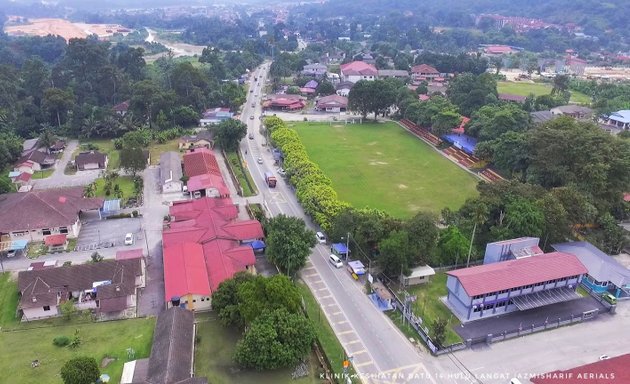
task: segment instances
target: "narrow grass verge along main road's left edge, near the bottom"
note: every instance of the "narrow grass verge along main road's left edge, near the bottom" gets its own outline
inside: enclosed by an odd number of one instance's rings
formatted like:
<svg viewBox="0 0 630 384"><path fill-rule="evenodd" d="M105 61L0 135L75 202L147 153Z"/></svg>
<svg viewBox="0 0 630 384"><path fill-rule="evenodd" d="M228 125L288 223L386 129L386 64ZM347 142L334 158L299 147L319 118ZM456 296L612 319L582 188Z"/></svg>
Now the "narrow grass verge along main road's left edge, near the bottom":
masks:
<svg viewBox="0 0 630 384"><path fill-rule="evenodd" d="M306 305L306 313L315 325L315 334L317 335L317 339L324 350L324 354L328 357L328 361L330 361L333 373L342 374L343 361L346 353L341 346L339 339L337 339L337 336L328 323L326 316L322 313L317 300L306 284L300 282L297 283L297 287L302 293L304 304ZM352 377L353 382L358 382L358 380L354 379L356 375L352 365L350 366L348 374Z"/></svg>

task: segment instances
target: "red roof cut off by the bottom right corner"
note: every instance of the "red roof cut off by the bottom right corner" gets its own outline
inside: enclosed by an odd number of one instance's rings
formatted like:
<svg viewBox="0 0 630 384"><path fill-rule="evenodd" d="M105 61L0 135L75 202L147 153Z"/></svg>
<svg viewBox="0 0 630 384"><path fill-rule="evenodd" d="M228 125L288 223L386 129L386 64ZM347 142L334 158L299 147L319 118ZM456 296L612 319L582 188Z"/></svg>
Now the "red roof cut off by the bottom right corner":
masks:
<svg viewBox="0 0 630 384"><path fill-rule="evenodd" d="M591 364L548 372L530 381L534 384L616 384L630 383L630 354L596 361Z"/></svg>

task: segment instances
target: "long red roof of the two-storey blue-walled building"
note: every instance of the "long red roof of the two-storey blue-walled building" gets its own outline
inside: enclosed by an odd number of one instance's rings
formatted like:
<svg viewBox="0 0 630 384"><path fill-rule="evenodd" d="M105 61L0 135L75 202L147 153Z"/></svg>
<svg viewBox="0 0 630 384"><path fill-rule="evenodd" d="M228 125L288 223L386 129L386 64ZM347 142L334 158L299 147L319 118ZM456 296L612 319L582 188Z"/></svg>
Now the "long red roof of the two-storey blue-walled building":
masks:
<svg viewBox="0 0 630 384"><path fill-rule="evenodd" d="M574 255L551 252L518 260L479 265L447 272L456 277L468 296L501 291L542 281L582 275L588 271Z"/></svg>

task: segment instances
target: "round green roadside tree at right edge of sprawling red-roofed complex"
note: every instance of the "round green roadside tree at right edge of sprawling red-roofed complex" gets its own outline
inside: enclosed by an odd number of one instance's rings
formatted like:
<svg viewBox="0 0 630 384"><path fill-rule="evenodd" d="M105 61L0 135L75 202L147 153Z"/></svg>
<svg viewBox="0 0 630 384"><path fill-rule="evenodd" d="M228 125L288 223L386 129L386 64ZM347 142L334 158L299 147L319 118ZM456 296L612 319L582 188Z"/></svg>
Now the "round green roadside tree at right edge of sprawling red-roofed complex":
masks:
<svg viewBox="0 0 630 384"><path fill-rule="evenodd" d="M267 258L281 271L294 276L304 267L316 244L315 232L306 228L301 218L285 215L269 219L265 229Z"/></svg>

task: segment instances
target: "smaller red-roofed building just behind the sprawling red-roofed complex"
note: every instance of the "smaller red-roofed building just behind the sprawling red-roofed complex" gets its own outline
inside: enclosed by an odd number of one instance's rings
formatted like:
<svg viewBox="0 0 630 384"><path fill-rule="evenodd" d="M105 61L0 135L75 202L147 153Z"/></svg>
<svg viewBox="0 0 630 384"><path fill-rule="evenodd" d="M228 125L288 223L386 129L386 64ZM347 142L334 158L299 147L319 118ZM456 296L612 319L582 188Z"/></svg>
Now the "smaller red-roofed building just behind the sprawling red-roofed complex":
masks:
<svg viewBox="0 0 630 384"><path fill-rule="evenodd" d="M194 197L230 195L219 163L209 149L198 148L184 154L184 174L188 177L188 191Z"/></svg>

